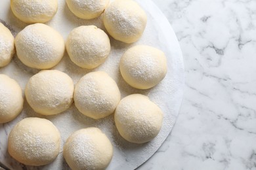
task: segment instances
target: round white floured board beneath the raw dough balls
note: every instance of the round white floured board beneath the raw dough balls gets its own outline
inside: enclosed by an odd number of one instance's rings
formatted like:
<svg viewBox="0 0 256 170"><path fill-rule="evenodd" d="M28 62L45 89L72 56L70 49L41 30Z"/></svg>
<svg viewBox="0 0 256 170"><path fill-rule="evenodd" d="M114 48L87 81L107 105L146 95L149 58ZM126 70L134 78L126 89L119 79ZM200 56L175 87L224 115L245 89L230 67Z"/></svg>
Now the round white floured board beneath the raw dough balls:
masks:
<svg viewBox="0 0 256 170"><path fill-rule="evenodd" d="M72 29L78 27L79 25L96 25L97 27L104 29L101 17L96 18L95 20L81 20L70 12L64 0L58 1L58 12L54 16L53 20L47 22L46 24L51 25L51 27L58 30L64 39L66 39L68 33L70 33ZM171 132L181 106L184 85L182 53L179 47L179 42L177 41L171 25L169 25L169 22L156 7L156 5L154 5L152 1L137 0L137 2L146 11L148 16L148 24L140 41L134 44L125 44L110 38L112 44L112 52L110 56L104 64L93 70L81 69L80 67L77 67L68 58L67 54L64 55L62 61L60 61L56 67L53 67L53 69L58 69L70 75L74 80L74 83L76 83L81 76L91 71L106 71L106 73L116 80L122 97L125 97L131 93L142 93L144 95L148 95L150 99L154 101L161 108L161 110L163 110L164 114L163 126L158 136L153 141L145 144L129 143L119 135L114 125L113 114L100 120L93 120L79 113L73 104L70 109L61 114L57 114L55 116L41 116L35 113L25 101L24 110L15 120L7 124L0 125L0 163L2 165L9 169L16 170L69 169L62 156L62 150L53 163L41 167L22 165L21 163L18 163L12 159L8 154L7 139L12 127L17 122L22 120L22 118L31 116L51 120L53 124L60 130L62 135L62 145L68 136L77 129L85 127L100 128L104 133L106 133L114 146L114 157L108 166L108 169L135 169L148 160L156 152L156 150L158 150ZM14 35L26 27L26 24L18 20L12 14L9 0L1 0L0 22L7 25ZM132 88L126 82L124 82L119 73L118 64L123 52L125 52L125 50L131 46L135 46L137 44L146 44L160 48L167 56L167 76L165 76L163 81L158 84L158 86L150 90L136 90L135 88ZM35 73L38 73L38 71L39 70L37 69L30 69L29 67L23 65L16 56L14 56L9 65L0 68L0 74L6 74L11 78L14 78L18 84L20 84L22 90L24 90L28 79L35 75Z"/></svg>

